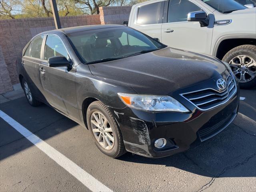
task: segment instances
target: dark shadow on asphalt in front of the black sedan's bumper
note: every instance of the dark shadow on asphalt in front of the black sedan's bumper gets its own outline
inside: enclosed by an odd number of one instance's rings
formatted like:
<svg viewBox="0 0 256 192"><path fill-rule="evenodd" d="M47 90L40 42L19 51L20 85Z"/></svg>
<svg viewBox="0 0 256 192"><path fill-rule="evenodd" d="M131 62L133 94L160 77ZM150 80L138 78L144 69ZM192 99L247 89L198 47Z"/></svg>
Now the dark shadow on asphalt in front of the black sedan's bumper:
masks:
<svg viewBox="0 0 256 192"><path fill-rule="evenodd" d="M118 159L172 166L207 177L255 177L256 137L235 124L230 124L220 134L180 154L146 158L126 153ZM232 170L239 166L242 166L242 170Z"/></svg>

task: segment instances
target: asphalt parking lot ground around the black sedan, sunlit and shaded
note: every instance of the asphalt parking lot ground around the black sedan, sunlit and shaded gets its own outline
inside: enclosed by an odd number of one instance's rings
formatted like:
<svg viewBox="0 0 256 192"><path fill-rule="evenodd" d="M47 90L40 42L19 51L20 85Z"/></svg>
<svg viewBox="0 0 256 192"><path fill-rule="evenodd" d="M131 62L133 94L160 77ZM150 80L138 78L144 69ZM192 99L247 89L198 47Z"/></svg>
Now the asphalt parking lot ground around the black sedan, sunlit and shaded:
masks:
<svg viewBox="0 0 256 192"><path fill-rule="evenodd" d="M159 159L109 158L88 130L52 108L32 107L24 96L4 102L0 110L41 140L30 142L0 118L0 191L256 191L256 90L240 96L228 128Z"/></svg>

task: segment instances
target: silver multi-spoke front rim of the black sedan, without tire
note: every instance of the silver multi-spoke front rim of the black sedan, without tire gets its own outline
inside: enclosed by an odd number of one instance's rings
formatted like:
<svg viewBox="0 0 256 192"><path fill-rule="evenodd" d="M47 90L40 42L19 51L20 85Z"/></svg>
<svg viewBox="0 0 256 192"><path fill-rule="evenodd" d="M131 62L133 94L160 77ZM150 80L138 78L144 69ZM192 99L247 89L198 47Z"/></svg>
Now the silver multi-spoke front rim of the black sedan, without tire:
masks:
<svg viewBox="0 0 256 192"><path fill-rule="evenodd" d="M107 118L100 112L91 115L92 132L98 143L106 150L114 147L114 134Z"/></svg>

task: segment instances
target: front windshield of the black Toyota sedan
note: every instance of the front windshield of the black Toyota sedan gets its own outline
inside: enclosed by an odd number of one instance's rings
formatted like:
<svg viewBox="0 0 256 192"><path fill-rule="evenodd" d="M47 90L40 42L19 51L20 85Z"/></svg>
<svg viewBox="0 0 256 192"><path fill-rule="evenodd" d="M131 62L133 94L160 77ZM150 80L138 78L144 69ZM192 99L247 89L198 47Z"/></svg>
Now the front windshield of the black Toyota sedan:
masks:
<svg viewBox="0 0 256 192"><path fill-rule="evenodd" d="M67 34L84 63L106 62L166 47L128 27L114 27Z"/></svg>

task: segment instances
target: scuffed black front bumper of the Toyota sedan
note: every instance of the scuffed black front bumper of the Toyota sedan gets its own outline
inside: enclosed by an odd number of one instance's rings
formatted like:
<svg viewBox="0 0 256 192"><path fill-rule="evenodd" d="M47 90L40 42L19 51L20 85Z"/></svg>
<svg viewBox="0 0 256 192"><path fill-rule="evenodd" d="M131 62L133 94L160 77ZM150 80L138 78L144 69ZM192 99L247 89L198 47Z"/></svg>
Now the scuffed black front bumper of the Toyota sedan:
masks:
<svg viewBox="0 0 256 192"><path fill-rule="evenodd" d="M188 150L226 128L236 117L239 89L225 104L208 111L197 108L190 113L144 112L131 108L111 108L119 124L126 150L146 157L159 158ZM162 149L154 141L165 138Z"/></svg>

